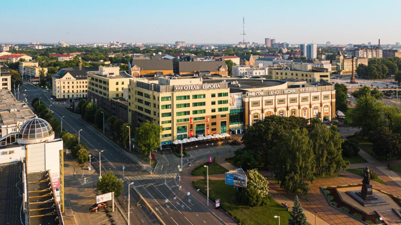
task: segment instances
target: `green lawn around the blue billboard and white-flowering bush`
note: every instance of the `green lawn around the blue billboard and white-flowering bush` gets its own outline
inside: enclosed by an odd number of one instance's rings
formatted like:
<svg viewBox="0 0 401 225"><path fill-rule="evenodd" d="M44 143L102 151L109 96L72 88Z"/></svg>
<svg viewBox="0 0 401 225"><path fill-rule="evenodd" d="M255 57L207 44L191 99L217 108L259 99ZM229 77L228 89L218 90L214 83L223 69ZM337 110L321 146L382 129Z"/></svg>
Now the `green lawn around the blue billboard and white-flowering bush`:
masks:
<svg viewBox="0 0 401 225"><path fill-rule="evenodd" d="M206 195L206 180L198 180L194 182L195 188ZM273 216L280 216L280 221L287 224L290 213L286 208L280 206L273 199L269 199L267 205L249 208L235 199L237 194L233 186L226 185L224 180L209 180L209 198L212 201L220 199L222 209L233 216L241 225L253 224L278 224L278 220Z"/></svg>

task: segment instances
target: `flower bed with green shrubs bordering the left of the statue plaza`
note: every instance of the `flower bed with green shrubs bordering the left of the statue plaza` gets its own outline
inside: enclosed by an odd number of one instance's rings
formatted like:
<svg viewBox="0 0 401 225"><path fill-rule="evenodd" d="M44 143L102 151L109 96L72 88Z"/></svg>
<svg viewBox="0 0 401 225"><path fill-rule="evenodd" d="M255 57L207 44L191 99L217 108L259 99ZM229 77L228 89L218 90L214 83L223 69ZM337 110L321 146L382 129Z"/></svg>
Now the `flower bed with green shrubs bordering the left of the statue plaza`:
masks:
<svg viewBox="0 0 401 225"><path fill-rule="evenodd" d="M360 220L367 224L381 224L379 217L375 214L367 214L359 209L349 205L346 202L343 202L336 191L337 188L342 187L360 187L361 184L350 184L350 185L339 185L339 186L328 186L328 187L320 187L326 196L327 200L330 202L330 205L336 207L338 210L354 217L357 220ZM398 200L399 201L399 200ZM401 203L400 203L401 204Z"/></svg>

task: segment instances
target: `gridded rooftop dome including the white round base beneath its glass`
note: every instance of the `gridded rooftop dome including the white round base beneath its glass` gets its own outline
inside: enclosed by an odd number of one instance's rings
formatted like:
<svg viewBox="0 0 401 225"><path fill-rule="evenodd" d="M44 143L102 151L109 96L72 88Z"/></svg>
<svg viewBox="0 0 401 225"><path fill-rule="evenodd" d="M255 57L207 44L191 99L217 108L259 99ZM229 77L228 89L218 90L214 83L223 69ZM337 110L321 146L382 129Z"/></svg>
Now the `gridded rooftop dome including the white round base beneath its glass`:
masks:
<svg viewBox="0 0 401 225"><path fill-rule="evenodd" d="M33 118L26 121L20 128L17 143L33 144L54 139L54 132L50 124L44 119Z"/></svg>

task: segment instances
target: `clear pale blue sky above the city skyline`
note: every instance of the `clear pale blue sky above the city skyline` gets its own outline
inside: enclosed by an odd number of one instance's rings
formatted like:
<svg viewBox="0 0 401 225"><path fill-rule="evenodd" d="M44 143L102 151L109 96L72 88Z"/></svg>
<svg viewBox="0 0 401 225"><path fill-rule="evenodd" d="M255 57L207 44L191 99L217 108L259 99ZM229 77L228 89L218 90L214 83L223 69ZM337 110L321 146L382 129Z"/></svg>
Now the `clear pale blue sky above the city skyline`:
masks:
<svg viewBox="0 0 401 225"><path fill-rule="evenodd" d="M401 42L396 0L1 0L0 43Z"/></svg>

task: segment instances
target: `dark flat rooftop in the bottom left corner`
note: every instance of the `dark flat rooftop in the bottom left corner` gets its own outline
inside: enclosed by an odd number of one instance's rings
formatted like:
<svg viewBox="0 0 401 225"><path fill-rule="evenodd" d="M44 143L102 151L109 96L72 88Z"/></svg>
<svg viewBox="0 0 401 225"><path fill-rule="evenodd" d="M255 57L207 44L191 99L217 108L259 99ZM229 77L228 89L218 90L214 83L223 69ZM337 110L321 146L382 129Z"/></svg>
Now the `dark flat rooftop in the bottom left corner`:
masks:
<svg viewBox="0 0 401 225"><path fill-rule="evenodd" d="M0 165L0 224L25 223L22 205L22 163Z"/></svg>

